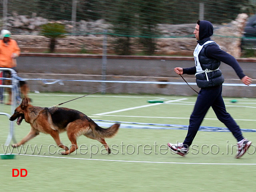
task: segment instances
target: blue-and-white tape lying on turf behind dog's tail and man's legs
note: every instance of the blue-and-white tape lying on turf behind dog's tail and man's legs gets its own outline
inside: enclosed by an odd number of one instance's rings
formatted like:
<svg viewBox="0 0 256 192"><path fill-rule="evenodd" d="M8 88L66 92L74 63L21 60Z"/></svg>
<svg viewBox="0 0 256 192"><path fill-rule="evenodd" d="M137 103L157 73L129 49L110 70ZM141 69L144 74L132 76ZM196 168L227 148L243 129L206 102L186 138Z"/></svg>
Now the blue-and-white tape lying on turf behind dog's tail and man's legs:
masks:
<svg viewBox="0 0 256 192"><path fill-rule="evenodd" d="M110 121L110 120L94 120L99 126L110 127L113 123L120 123L120 128L130 129L168 129L168 130L188 130L188 125L175 124L156 124L156 123L137 123L124 121ZM210 127L200 126L199 131L208 132L230 132L228 128L224 127ZM242 132L256 132L256 129L241 129Z"/></svg>

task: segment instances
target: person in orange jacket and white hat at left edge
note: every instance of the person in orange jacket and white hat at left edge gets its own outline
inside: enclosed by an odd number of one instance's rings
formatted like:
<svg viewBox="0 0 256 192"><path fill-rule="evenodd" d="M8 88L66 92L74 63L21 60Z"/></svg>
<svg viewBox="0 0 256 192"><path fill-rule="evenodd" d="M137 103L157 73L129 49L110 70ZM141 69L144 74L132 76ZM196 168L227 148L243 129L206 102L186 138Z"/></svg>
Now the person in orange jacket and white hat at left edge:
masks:
<svg viewBox="0 0 256 192"><path fill-rule="evenodd" d="M12 68L15 70L17 64L15 58L20 55L20 48L15 40L11 39L11 32L1 31L2 40L0 40L0 68ZM3 71L4 77L10 76L8 71ZM7 81L5 81L6 84ZM9 92L9 102L12 104L11 92ZM3 103L3 88L0 88L0 102Z"/></svg>

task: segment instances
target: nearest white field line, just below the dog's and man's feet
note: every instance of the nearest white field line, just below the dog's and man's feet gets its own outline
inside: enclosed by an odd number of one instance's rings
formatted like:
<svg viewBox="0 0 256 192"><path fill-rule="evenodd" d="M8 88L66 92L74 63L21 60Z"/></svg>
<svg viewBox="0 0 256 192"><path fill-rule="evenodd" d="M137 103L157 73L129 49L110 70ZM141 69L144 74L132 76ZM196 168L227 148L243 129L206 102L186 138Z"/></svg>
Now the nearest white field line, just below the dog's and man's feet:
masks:
<svg viewBox="0 0 256 192"><path fill-rule="evenodd" d="M43 155L28 155L17 154L25 156L36 157L49 157L49 158L62 158L62 159L76 159L76 160L93 160L93 161L112 161L112 162L128 162L128 163L161 163L161 164L194 164L194 165L256 165L256 163L193 163L193 162L157 162L157 161L128 161L128 160L109 160L109 159L92 159L92 158L73 158L73 157L56 157L56 156L43 156Z"/></svg>

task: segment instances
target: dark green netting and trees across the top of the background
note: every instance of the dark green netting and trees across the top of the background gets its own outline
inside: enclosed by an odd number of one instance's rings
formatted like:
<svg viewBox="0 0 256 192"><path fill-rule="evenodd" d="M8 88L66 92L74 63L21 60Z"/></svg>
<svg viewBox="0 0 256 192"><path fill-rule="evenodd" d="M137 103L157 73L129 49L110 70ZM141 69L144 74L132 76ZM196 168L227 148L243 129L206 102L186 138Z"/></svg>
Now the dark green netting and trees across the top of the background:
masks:
<svg viewBox="0 0 256 192"><path fill-rule="evenodd" d="M255 12L256 0L2 0L0 7L3 22L5 15L14 13L40 16L51 21L69 21L73 28L68 34L88 35L103 31L79 31L76 23L103 19L111 24L108 34L141 38L166 37L158 30L161 24L194 24L199 18L223 24L234 20L239 13L252 15Z"/></svg>

